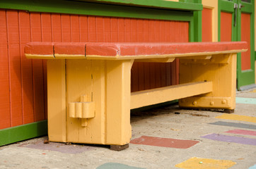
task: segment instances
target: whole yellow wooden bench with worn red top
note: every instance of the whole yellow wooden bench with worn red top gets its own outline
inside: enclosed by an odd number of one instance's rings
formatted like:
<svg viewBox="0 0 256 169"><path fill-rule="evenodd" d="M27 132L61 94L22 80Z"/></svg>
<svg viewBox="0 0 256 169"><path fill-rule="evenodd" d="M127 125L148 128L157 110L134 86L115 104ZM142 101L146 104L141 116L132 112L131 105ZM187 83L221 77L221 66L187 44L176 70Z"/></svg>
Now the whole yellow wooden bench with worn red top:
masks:
<svg viewBox="0 0 256 169"><path fill-rule="evenodd" d="M246 42L45 43L25 46L27 58L47 58L51 142L127 148L130 109L180 99L186 108L235 108L236 53ZM180 84L131 94L137 62L180 59Z"/></svg>

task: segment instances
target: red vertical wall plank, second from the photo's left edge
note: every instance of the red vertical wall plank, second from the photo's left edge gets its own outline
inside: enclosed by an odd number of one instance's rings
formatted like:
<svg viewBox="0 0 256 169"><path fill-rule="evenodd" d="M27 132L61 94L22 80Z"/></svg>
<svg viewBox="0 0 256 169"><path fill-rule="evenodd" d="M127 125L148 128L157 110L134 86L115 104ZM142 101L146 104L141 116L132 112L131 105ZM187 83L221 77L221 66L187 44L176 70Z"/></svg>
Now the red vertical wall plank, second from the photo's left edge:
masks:
<svg viewBox="0 0 256 169"><path fill-rule="evenodd" d="M11 83L11 126L16 126L23 124L18 11L7 11L6 21L8 30L9 78Z"/></svg>

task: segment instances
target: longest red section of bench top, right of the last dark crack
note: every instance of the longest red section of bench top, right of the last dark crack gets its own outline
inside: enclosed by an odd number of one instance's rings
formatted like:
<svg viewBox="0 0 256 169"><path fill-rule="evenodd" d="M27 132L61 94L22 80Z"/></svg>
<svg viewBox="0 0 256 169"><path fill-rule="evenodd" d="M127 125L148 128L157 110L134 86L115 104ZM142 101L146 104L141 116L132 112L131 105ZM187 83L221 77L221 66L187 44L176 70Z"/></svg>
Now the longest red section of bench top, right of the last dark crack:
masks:
<svg viewBox="0 0 256 169"><path fill-rule="evenodd" d="M86 56L171 55L241 49L248 49L246 42L88 43Z"/></svg>

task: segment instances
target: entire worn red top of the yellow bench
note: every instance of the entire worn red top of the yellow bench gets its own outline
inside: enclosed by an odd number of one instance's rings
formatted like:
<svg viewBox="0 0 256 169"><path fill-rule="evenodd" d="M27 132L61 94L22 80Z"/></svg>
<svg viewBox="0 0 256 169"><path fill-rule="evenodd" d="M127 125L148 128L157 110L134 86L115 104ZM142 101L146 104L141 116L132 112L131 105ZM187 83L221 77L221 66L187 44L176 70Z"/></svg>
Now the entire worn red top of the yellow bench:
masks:
<svg viewBox="0 0 256 169"><path fill-rule="evenodd" d="M31 42L25 46L25 54L88 56L163 56L175 54L200 54L221 51L246 51L247 42L188 42L188 43L78 43ZM232 52L229 52L232 53ZM72 57L71 57L72 58Z"/></svg>

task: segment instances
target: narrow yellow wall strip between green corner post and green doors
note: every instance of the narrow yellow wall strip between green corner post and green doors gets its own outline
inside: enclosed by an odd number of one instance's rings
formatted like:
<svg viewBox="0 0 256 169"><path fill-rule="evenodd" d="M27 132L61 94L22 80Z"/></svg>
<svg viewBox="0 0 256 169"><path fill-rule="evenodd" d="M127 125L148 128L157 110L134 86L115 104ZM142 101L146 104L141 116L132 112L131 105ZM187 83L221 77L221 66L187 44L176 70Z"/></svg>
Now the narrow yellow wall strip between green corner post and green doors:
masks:
<svg viewBox="0 0 256 169"><path fill-rule="evenodd" d="M211 8L212 10L212 42L218 42L218 1L202 0L204 8Z"/></svg>

